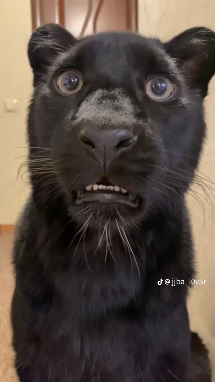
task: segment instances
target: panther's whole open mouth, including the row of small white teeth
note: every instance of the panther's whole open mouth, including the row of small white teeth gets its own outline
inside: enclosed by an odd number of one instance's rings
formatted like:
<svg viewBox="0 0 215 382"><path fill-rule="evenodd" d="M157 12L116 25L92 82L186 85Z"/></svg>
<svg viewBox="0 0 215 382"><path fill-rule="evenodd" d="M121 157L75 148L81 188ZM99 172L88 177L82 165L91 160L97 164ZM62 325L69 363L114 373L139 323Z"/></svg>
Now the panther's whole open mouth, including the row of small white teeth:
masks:
<svg viewBox="0 0 215 382"><path fill-rule="evenodd" d="M137 198L125 188L112 185L105 176L98 182L88 185L85 189L76 193L76 204L81 203L101 203L101 204L124 204L130 207L137 207Z"/></svg>

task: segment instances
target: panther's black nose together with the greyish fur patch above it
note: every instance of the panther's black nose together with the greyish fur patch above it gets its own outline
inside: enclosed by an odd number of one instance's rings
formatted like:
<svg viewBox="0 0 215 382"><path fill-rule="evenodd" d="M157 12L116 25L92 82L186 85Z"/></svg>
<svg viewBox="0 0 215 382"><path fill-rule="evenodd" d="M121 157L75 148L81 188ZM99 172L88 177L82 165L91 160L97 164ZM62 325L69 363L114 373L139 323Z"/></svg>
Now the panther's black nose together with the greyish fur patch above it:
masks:
<svg viewBox="0 0 215 382"><path fill-rule="evenodd" d="M122 89L98 89L86 97L77 112L80 126L78 138L85 150L91 151L106 170L125 150L131 149L137 137L134 126L134 106Z"/></svg>

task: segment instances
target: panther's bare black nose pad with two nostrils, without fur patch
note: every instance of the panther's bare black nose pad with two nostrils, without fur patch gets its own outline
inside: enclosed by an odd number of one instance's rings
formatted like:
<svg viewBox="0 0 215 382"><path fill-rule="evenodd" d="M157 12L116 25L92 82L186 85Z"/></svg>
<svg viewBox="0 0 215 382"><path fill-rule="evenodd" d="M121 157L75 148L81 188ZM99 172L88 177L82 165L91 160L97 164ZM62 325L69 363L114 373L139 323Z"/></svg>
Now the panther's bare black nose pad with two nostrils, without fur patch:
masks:
<svg viewBox="0 0 215 382"><path fill-rule="evenodd" d="M137 136L129 129L101 130L93 126L81 129L78 138L93 151L94 157L104 170L117 155L129 150L137 141Z"/></svg>

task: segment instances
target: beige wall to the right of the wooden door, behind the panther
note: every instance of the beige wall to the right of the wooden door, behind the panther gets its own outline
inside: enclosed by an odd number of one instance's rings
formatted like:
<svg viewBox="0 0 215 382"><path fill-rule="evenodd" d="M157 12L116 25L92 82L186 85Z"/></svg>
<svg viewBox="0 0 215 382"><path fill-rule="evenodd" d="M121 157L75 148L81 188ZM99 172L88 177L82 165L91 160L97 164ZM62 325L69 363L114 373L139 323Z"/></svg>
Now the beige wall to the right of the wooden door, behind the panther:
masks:
<svg viewBox="0 0 215 382"><path fill-rule="evenodd" d="M168 40L192 26L207 26L215 30L215 2L213 0L139 0L139 32ZM215 77L205 100L208 125L207 142L202 156L200 172L215 182ZM209 182L207 182L210 185ZM201 188L194 188L202 195L203 210L198 202L188 197L195 238L196 278L207 279L211 286L197 285L189 299L191 327L204 338L210 349L215 381L215 186L209 196ZM195 194L197 195L197 194Z"/></svg>

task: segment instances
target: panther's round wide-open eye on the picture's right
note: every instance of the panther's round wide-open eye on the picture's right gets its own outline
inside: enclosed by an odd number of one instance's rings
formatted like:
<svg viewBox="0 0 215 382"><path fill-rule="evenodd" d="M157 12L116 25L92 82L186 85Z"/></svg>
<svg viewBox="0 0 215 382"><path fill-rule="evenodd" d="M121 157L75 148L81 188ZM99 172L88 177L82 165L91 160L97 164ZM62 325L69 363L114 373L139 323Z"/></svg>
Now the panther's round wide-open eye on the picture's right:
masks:
<svg viewBox="0 0 215 382"><path fill-rule="evenodd" d="M155 101L165 101L175 93L175 85L168 77L158 75L147 80L145 91L151 99Z"/></svg>

